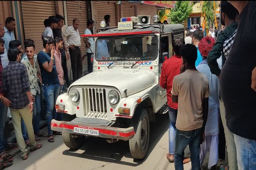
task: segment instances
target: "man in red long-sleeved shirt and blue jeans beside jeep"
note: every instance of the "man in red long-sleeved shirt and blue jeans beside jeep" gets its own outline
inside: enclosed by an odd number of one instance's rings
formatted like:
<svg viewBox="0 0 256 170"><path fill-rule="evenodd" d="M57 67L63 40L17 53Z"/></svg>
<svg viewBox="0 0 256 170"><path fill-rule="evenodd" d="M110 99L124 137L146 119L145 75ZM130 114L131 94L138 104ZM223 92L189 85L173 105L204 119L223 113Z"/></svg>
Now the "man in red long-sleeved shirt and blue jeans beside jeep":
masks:
<svg viewBox="0 0 256 170"><path fill-rule="evenodd" d="M166 154L166 158L169 162L174 162L174 144L175 144L175 130L176 130L176 119L178 112L178 104L172 102L172 82L174 76L180 74L180 67L182 64L182 58L180 56L180 49L185 45L185 41L182 38L174 40L173 52L174 55L165 60L162 65L160 86L167 91L167 102L169 107L169 118L170 118L170 128L169 128L169 152ZM185 158L183 163L190 162L189 158Z"/></svg>

